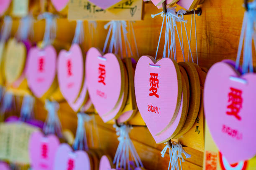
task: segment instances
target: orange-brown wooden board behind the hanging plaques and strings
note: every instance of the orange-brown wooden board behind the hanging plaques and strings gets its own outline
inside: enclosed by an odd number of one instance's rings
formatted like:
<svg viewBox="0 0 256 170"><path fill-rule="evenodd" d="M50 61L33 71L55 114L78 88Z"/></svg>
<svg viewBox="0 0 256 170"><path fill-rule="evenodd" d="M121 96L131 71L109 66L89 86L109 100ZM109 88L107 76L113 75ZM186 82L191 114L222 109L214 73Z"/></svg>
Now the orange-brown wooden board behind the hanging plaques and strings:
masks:
<svg viewBox="0 0 256 170"><path fill-rule="evenodd" d="M215 62L223 59L236 59L236 52L238 48L238 41L241 31L241 24L243 20L244 9L242 7L243 0L205 0L200 5L202 8L202 15L198 17L196 15L197 22L197 47L198 47L198 61L200 67L210 68ZM179 7L178 7L179 8ZM137 44L140 55L154 56L156 52L157 42L159 38L159 32L161 28L162 18L157 16L151 18L151 14L159 13L158 10L151 2L144 3L143 20L134 23L134 30L136 34ZM190 29L191 16L184 17L187 22L187 30ZM93 40L89 35L88 28L85 31L85 49L91 46L103 48L107 30L104 30L103 26L106 22L97 22L96 35L93 35ZM87 27L87 22L85 22ZM12 36L18 28L18 21L14 21L12 28ZM71 43L74 36L75 22L69 22L66 19L59 18L57 20L57 36L56 39L64 42ZM180 27L178 25L178 29ZM194 29L194 28L193 28ZM42 40L44 33L44 21L37 21L34 25L34 41ZM183 30L184 33L184 30ZM131 35L129 36L131 38ZM186 37L184 36L184 51L187 58L188 46L186 43ZM132 43L133 44L133 43ZM159 47L160 58L162 55L162 49L164 44L164 36L161 37L161 43ZM182 61L182 52L179 48L179 42L177 41L177 61ZM133 46L134 48L134 46ZM195 59L195 33L192 30L192 53ZM255 52L254 52L255 55ZM46 111L43 108L43 104L40 101L36 103L36 117L44 120ZM59 110L59 117L61 119L62 127L64 129L70 129L75 133L77 126L77 117L72 109L66 102L61 103ZM117 136L115 135L115 129L112 125L104 124L99 117L96 116L97 127L100 135L100 146L107 150L107 152L113 157L118 145ZM90 143L89 132L88 141ZM99 146L97 136L94 136L95 143ZM134 128L131 131L131 139L140 155L144 166L148 170L166 170L169 164L169 154L166 153L165 158L161 158L161 150L164 145L157 145L154 139L146 128ZM91 145L91 144L90 144ZM192 157L185 159L186 162L182 163L183 170L200 170L202 169L203 153L201 151L185 147L184 150L191 154ZM167 155L168 154L168 155Z"/></svg>

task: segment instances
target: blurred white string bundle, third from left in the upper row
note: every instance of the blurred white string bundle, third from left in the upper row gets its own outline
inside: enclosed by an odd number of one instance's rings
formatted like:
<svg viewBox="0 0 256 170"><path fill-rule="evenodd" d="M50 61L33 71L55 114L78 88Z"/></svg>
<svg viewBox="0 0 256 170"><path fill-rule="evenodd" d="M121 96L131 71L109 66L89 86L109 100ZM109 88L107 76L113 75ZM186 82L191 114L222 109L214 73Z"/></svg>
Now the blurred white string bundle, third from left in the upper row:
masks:
<svg viewBox="0 0 256 170"><path fill-rule="evenodd" d="M47 45L51 44L56 37L56 19L54 15L51 13L43 13L38 16L38 20L45 19L45 32L44 32L44 40L43 46L46 47Z"/></svg>

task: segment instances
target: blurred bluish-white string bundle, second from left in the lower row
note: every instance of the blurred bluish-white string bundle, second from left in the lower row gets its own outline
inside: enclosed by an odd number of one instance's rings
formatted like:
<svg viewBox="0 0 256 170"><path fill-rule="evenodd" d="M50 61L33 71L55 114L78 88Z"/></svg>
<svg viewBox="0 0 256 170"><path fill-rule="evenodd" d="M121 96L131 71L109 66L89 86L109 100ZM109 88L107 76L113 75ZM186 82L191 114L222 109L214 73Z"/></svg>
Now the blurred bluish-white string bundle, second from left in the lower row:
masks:
<svg viewBox="0 0 256 170"><path fill-rule="evenodd" d="M33 108L35 99L31 95L25 95L23 97L21 109L20 109L20 120L26 122L33 118Z"/></svg>

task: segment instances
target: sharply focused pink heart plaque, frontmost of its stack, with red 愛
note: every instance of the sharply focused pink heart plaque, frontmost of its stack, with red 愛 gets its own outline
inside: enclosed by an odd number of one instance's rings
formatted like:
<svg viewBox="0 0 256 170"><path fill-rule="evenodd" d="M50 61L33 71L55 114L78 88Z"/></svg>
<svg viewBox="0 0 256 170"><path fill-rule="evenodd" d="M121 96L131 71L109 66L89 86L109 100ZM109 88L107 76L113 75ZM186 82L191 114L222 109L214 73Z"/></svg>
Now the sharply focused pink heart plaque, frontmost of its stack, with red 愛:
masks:
<svg viewBox="0 0 256 170"><path fill-rule="evenodd" d="M134 77L138 110L152 135L166 130L177 117L181 102L181 74L177 62L163 58L156 62L142 56Z"/></svg>

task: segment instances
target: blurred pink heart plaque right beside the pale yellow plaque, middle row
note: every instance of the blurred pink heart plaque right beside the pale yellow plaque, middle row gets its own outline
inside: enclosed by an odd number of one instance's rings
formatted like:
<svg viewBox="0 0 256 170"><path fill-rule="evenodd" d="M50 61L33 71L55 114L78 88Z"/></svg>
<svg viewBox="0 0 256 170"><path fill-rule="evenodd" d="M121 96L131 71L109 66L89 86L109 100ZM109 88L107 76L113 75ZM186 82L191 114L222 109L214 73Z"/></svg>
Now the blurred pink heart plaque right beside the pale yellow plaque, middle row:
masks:
<svg viewBox="0 0 256 170"><path fill-rule="evenodd" d="M27 80L36 97L42 97L51 87L56 75L56 50L49 45L43 50L33 47L28 53Z"/></svg>

